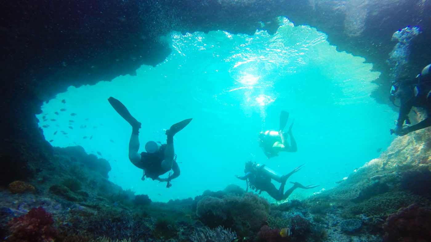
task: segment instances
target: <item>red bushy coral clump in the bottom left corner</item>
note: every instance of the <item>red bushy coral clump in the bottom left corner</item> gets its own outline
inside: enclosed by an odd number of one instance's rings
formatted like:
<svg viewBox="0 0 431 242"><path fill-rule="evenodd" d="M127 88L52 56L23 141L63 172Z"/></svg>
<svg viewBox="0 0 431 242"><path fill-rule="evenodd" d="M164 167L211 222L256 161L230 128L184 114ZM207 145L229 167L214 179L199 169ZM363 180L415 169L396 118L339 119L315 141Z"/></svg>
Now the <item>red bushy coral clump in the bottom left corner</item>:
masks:
<svg viewBox="0 0 431 242"><path fill-rule="evenodd" d="M51 214L44 208L33 208L9 223L10 236L7 241L53 242L57 234L53 224Z"/></svg>

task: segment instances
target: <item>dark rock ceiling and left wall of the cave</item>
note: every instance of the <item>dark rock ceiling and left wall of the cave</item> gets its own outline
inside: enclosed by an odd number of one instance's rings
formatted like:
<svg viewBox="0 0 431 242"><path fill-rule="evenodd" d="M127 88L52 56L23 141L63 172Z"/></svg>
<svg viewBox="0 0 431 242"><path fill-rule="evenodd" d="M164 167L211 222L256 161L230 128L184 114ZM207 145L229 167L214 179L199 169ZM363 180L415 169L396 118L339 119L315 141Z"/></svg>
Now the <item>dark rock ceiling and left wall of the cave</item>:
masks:
<svg viewBox="0 0 431 242"><path fill-rule="evenodd" d="M420 26L410 55L411 72L419 73L431 62L429 12L431 3L425 0L5 1L0 8L0 163L47 159L51 147L34 116L42 102L71 85L133 75L142 64L155 66L170 53L168 43L159 41L170 31L274 33L275 18L284 15L325 32L339 51L372 62L382 72L375 98L387 102L392 34Z"/></svg>

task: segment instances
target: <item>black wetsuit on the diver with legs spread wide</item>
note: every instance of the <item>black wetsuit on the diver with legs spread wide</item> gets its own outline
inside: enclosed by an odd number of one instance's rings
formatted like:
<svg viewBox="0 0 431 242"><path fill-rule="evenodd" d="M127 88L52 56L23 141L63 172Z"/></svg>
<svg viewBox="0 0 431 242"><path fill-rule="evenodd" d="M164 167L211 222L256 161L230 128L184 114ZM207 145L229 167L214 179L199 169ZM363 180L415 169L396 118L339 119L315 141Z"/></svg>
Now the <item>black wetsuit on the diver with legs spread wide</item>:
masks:
<svg viewBox="0 0 431 242"><path fill-rule="evenodd" d="M162 147L156 153L141 153L141 160L137 163L134 163L134 165L137 168L144 170L143 177L156 180L160 175L169 172L162 168L162 161L165 159L165 148L166 144L162 144ZM176 162L176 159L174 159L172 164L172 171L174 173L169 177L170 180L177 178L180 175L180 168Z"/></svg>

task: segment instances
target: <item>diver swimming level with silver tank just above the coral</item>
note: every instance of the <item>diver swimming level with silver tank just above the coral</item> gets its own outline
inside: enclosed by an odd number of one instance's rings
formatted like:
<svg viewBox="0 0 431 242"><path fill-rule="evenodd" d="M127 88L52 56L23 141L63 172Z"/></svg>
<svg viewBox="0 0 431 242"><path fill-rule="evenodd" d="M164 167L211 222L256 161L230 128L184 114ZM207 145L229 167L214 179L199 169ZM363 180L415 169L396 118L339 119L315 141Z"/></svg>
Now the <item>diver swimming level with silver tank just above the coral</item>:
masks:
<svg viewBox="0 0 431 242"><path fill-rule="evenodd" d="M315 187L319 187L320 185L309 185L309 186L303 186L302 184L298 182L290 182L294 184L289 190L284 193L284 186L286 185L287 179L294 174L295 172L299 171L301 167L305 165L302 164L295 168L293 171L286 175L281 175L280 173L272 170L266 165L263 164L256 164L251 161L248 161L245 163L245 169L244 169L244 176L235 175L236 178L240 180L247 180L247 190L248 185L250 184L250 187L252 189L255 189L256 192L258 190L259 194L262 193L262 191L265 191L269 194L269 196L272 196L277 201L285 200L287 197L290 196L290 194L297 188L303 188L303 189L311 189ZM281 183L280 188L277 190L275 188L274 184L272 184L271 180L274 179L275 181L278 181Z"/></svg>

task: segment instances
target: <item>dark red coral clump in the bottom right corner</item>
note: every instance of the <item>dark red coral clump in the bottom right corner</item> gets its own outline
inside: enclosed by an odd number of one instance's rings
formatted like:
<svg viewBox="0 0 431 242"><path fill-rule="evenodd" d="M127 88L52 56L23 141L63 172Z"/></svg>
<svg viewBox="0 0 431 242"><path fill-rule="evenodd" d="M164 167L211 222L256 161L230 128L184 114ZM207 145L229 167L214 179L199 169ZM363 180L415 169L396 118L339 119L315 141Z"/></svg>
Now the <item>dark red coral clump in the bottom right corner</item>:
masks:
<svg viewBox="0 0 431 242"><path fill-rule="evenodd" d="M390 214L383 225L384 241L426 242L431 238L431 211L418 204Z"/></svg>

